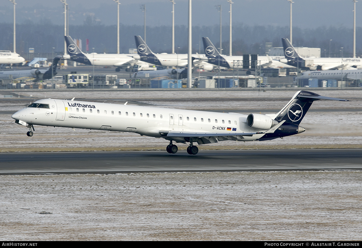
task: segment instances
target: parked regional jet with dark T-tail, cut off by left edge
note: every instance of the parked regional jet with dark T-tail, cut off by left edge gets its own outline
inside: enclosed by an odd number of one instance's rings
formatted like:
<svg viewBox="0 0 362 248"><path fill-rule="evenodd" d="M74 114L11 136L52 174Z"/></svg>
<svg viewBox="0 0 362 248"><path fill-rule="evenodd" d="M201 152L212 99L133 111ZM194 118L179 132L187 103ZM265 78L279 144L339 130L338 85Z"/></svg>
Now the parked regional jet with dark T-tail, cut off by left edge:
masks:
<svg viewBox="0 0 362 248"><path fill-rule="evenodd" d="M21 77L30 77L34 78L33 82L38 82L46 79L51 79L52 76L56 75L56 66L59 57L55 57L49 69L47 70L39 70L39 69L31 69L31 70L8 70L0 72L1 79L9 79L9 76L12 75L13 79L21 78Z"/></svg>

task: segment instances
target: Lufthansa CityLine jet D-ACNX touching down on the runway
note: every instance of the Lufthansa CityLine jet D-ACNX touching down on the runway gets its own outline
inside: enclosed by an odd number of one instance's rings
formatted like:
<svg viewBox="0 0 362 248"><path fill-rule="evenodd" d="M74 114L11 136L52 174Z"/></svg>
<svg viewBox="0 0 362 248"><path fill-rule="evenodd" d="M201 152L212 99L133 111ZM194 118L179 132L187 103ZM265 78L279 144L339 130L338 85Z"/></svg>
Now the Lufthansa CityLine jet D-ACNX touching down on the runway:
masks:
<svg viewBox="0 0 362 248"><path fill-rule="evenodd" d="M194 142L264 141L302 133L300 122L320 99L348 101L301 90L276 114L243 115L49 98L31 103L12 118L29 128L28 136L33 136L33 125L133 132L168 140L168 153L178 150L173 141L189 142L187 152L197 154Z"/></svg>

